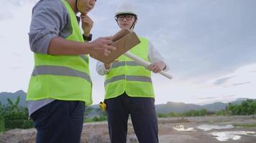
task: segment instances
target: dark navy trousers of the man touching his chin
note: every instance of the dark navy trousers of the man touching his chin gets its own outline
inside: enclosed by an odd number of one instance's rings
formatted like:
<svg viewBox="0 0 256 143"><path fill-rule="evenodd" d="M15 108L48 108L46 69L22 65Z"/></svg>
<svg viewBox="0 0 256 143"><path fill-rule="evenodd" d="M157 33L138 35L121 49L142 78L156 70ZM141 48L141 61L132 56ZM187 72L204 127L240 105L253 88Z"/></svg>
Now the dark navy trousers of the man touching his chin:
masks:
<svg viewBox="0 0 256 143"><path fill-rule="evenodd" d="M31 115L37 143L80 143L84 102L55 100Z"/></svg>

